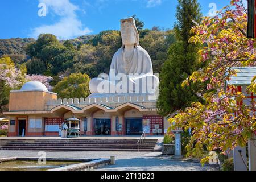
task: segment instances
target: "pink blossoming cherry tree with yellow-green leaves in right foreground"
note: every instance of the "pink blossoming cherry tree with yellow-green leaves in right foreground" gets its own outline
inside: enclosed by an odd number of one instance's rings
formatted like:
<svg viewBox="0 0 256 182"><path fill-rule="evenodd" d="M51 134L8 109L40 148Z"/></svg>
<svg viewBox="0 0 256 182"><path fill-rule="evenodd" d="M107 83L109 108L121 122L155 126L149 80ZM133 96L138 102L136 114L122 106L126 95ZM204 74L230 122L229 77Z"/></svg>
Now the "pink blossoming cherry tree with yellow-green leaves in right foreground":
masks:
<svg viewBox="0 0 256 182"><path fill-rule="evenodd" d="M186 146L188 156L200 154L205 148L225 153L236 146L243 147L256 130L255 102L246 104L244 93L226 84L231 76L236 76L232 67L256 65L255 39L247 39L246 31L247 9L241 0L230 1L217 16L205 17L192 27L194 36L190 42L204 45L199 51L200 61L209 64L188 77L183 86L208 81L207 92L200 93L205 104L193 103L170 119L170 123L175 123L171 129L192 129ZM256 92L255 80L256 77L247 92ZM201 162L208 160L204 158Z"/></svg>

